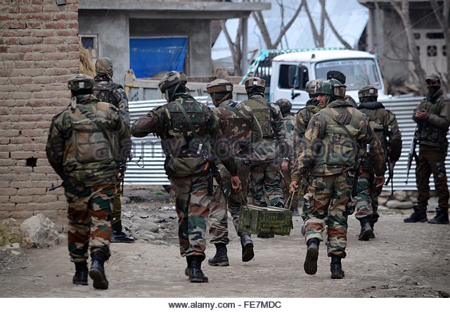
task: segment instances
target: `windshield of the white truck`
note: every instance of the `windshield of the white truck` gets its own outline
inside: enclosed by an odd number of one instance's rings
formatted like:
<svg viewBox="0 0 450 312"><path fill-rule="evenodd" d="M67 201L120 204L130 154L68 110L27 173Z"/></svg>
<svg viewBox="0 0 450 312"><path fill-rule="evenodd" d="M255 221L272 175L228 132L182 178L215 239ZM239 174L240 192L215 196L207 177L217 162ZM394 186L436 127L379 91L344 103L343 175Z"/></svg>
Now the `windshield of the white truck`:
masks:
<svg viewBox="0 0 450 312"><path fill-rule="evenodd" d="M347 90L359 90L366 84L372 84L376 88L381 87L375 60L351 59L351 60L328 60L316 64L316 79L326 79L329 70L339 70L345 77Z"/></svg>

